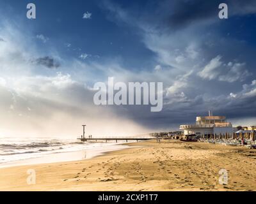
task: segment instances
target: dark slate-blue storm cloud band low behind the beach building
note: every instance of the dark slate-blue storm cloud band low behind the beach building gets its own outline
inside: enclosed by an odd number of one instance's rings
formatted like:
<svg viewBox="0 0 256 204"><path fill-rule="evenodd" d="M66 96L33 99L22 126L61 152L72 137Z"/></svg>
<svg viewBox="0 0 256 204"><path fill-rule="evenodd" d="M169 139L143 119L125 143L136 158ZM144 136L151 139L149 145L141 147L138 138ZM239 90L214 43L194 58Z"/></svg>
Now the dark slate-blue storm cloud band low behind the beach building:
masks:
<svg viewBox="0 0 256 204"><path fill-rule="evenodd" d="M228 96L218 98L191 99L190 103L182 105L164 105L162 112L150 112L150 106L129 106L129 111L124 107L115 107L116 112L125 113L126 117L136 121L148 129L178 129L180 124L194 124L196 116L206 116L208 110L214 115L227 116L227 119L242 119L255 117L256 95L246 98L232 99Z"/></svg>

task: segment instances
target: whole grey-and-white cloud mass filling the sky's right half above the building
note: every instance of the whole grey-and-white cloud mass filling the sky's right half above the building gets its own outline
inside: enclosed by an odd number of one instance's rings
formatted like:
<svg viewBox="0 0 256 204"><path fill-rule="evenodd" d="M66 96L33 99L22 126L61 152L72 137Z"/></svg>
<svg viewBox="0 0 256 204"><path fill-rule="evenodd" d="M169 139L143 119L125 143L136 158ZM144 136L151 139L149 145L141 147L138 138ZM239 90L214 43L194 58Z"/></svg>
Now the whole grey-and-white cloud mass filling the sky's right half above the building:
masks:
<svg viewBox="0 0 256 204"><path fill-rule="evenodd" d="M179 80L176 75L170 76L169 81L163 80L164 87L172 87L173 94L164 98L162 112L152 113L150 106L115 106L115 112L151 129L193 124L196 116L207 115L209 109L214 115L225 115L228 119L255 117L255 87L239 92L244 84L255 79L255 47L250 45L250 39L221 36L218 31L225 24L219 24L220 3L228 4L229 22L234 20L232 17L243 18L244 15L256 13L256 1L252 0L158 1L150 11L143 8L138 12L118 4L108 5L117 22L138 26L143 43L156 53L159 64L180 70L177 75L181 76L193 69L188 80ZM211 31L207 25L211 26ZM195 47L189 50L191 43ZM218 55L221 56L221 65L214 68L214 63L210 62ZM176 59L181 60L177 62ZM198 76L202 70L216 72L216 77ZM177 84L173 78L176 78ZM234 95L230 96L231 92Z"/></svg>

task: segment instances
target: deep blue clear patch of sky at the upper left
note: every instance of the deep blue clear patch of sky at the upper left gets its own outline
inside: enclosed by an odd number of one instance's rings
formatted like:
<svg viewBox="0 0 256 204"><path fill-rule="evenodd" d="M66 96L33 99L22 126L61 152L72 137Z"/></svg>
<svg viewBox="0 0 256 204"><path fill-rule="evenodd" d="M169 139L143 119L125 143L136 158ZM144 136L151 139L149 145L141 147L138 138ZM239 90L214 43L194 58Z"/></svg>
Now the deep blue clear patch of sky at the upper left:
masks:
<svg viewBox="0 0 256 204"><path fill-rule="evenodd" d="M24 5L30 1L3 2L9 8L4 13L10 20L22 22L22 29L31 29L35 35L43 33L49 38L46 49L50 44L65 57L79 57L83 53L93 55L92 58L114 56L122 58L122 62L131 68L138 67L138 64L146 68L148 62L143 60L144 57L154 55L143 45L137 31L109 20L109 12L104 10L104 3L100 1L33 1L36 20L29 20L24 15L27 11ZM92 17L88 20L82 18L85 12L92 13ZM69 48L65 47L69 44Z"/></svg>

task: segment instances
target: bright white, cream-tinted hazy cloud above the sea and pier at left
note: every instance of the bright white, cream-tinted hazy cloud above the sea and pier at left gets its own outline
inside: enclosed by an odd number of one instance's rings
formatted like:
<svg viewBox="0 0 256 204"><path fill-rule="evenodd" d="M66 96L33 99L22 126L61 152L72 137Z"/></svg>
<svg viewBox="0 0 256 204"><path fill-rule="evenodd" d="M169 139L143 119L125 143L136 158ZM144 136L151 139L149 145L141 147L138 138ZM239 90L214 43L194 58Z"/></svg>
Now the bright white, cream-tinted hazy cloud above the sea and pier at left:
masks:
<svg viewBox="0 0 256 204"><path fill-rule="evenodd" d="M93 104L94 92L86 82L93 84L94 80L100 81L102 75L108 76L116 71L122 76L125 70L120 66L57 57L63 62L61 72L42 71L38 64L33 63L33 59L42 56L35 38L29 38L28 34L17 29L2 29L0 34L6 39L0 47L0 134L76 138L84 121L88 124L88 134L95 136L150 132L110 106ZM84 59L88 56L81 55ZM122 127L124 123L127 128Z"/></svg>

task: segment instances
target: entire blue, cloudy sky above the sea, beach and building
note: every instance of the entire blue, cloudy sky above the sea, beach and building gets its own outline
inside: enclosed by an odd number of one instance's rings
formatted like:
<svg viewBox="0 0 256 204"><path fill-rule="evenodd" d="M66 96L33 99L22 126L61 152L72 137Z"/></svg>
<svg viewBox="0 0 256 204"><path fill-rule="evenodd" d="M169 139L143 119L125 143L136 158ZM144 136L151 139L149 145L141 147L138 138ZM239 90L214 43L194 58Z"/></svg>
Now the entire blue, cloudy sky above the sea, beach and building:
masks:
<svg viewBox="0 0 256 204"><path fill-rule="evenodd" d="M253 0L0 0L0 136L171 131L208 110L256 125L255 14ZM108 77L163 82L163 110L95 105Z"/></svg>

